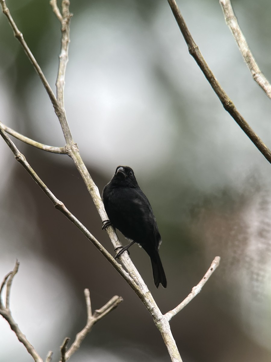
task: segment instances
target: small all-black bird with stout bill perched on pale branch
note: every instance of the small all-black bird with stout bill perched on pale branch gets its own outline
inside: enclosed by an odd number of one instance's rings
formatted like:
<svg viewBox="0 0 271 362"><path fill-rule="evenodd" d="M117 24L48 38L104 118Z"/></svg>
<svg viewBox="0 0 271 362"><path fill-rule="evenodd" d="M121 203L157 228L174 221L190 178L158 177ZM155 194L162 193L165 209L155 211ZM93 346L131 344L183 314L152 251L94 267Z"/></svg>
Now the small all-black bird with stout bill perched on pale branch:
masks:
<svg viewBox="0 0 271 362"><path fill-rule="evenodd" d="M149 200L138 186L132 168L116 168L115 175L103 189L103 202L109 218L104 221L103 229L112 225L131 241L115 249L120 249L115 259L134 243L139 244L151 258L156 287L161 283L165 288L167 279L158 253L161 236Z"/></svg>

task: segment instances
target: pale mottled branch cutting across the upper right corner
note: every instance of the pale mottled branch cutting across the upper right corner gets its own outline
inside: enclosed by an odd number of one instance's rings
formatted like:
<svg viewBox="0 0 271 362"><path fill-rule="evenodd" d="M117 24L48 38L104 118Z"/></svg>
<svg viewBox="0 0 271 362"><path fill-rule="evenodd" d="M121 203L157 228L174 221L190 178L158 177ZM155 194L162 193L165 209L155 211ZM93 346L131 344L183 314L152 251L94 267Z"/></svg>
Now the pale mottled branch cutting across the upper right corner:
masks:
<svg viewBox="0 0 271 362"><path fill-rule="evenodd" d="M220 5L223 9L225 20L228 27L231 29L232 35L235 38L238 47L241 51L241 54L249 67L249 70L252 74L253 79L258 83L258 85L266 93L267 97L271 99L271 85L268 83L268 80L261 72L254 56L252 55L248 43L238 25L237 18L232 8L231 0L220 0Z"/></svg>

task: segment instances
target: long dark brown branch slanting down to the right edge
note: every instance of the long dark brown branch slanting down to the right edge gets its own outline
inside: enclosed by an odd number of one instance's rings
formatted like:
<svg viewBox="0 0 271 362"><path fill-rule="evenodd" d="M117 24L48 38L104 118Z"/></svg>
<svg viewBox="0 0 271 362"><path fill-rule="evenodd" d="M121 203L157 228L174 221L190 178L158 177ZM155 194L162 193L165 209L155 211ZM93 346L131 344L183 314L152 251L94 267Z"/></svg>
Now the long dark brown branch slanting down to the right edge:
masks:
<svg viewBox="0 0 271 362"><path fill-rule="evenodd" d="M175 0L168 0L168 3L171 7L172 13L175 16L177 24L181 30L181 33L188 45L189 53L193 56L195 61L197 62L199 68L201 68L203 74L206 79L210 83L211 87L214 89L216 95L221 101L225 110L232 116L232 118L236 121L236 123L241 127L241 129L245 132L245 134L249 137L249 139L254 143L254 145L258 148L258 150L262 153L262 155L271 163L271 151L269 148L262 142L261 138L253 131L253 129L249 126L249 124L245 121L242 115L238 112L235 105L228 97L227 93L225 93L224 89L219 84L218 80L212 73L211 69L208 67L205 59L203 58L199 47L195 43L194 39L188 27L185 23L185 20L178 8Z"/></svg>

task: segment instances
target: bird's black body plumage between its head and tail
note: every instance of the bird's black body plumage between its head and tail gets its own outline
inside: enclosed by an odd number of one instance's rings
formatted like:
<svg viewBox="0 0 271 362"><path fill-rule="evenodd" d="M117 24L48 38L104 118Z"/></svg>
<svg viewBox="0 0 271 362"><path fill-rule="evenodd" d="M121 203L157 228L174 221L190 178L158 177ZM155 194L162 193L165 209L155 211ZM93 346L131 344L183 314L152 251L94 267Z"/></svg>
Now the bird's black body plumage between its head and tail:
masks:
<svg viewBox="0 0 271 362"><path fill-rule="evenodd" d="M112 187L103 190L103 201L111 224L127 239L136 241L144 249L159 247L160 234L150 203L138 188Z"/></svg>

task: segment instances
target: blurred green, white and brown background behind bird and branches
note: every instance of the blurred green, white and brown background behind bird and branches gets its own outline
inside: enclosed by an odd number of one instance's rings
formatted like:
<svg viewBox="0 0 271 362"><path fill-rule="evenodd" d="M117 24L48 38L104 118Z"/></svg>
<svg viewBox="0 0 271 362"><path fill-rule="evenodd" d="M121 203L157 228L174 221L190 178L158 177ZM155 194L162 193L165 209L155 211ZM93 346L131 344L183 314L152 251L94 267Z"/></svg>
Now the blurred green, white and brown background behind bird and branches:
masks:
<svg viewBox="0 0 271 362"><path fill-rule="evenodd" d="M7 5L51 87L60 24L49 1ZM219 1L178 1L203 56L237 109L271 147L271 102L253 81ZM271 2L233 1L259 67L271 79ZM156 290L150 260L131 258L162 312L175 307L216 255L220 267L171 322L185 362L271 360L271 165L226 113L178 29L167 1L71 1L65 108L73 138L100 192L117 165L134 169L163 243L168 287ZM64 138L53 107L6 17L0 16L0 119L53 146ZM15 140L38 175L114 254L83 181L67 156ZM45 358L59 361L64 337L93 310L124 302L96 324L78 362L169 361L162 337L137 296L14 160L0 139L0 279L13 269L11 307ZM125 240L120 235L121 240ZM0 361L32 361L0 319Z"/></svg>

